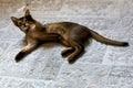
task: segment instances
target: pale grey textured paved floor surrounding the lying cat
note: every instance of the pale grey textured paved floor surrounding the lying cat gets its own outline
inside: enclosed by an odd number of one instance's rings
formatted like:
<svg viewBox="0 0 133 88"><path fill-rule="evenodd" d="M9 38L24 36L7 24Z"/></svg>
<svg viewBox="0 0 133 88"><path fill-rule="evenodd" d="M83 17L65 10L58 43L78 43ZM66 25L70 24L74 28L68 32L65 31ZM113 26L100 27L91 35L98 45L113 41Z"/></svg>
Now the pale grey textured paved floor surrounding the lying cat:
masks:
<svg viewBox="0 0 133 88"><path fill-rule="evenodd" d="M133 0L32 0L29 7L42 23L72 21L129 47L92 41L86 53L69 65L64 47L44 44L20 63L25 44L11 15L21 16L23 0L0 0L0 88L133 88Z"/></svg>

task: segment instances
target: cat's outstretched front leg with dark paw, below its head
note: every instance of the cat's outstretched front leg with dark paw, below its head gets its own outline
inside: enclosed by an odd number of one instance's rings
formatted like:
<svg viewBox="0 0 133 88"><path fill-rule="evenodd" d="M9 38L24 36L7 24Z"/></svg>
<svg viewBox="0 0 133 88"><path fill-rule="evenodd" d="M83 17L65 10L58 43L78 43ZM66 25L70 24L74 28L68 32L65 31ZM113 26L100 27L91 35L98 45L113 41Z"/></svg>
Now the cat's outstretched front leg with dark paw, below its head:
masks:
<svg viewBox="0 0 133 88"><path fill-rule="evenodd" d="M20 62L23 57L30 54L39 46L38 43L29 43L25 47L23 47L16 56L16 62Z"/></svg>

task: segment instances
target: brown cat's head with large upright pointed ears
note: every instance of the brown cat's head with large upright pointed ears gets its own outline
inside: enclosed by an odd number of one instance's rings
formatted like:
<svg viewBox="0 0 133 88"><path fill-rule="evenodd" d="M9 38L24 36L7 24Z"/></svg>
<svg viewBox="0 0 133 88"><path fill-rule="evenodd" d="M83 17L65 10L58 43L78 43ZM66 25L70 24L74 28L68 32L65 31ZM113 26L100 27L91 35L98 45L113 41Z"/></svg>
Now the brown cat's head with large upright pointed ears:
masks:
<svg viewBox="0 0 133 88"><path fill-rule="evenodd" d="M18 26L23 32L27 32L30 29L30 24L34 22L28 9L24 12L24 16L22 18L11 16L11 20L14 23L14 25Z"/></svg>

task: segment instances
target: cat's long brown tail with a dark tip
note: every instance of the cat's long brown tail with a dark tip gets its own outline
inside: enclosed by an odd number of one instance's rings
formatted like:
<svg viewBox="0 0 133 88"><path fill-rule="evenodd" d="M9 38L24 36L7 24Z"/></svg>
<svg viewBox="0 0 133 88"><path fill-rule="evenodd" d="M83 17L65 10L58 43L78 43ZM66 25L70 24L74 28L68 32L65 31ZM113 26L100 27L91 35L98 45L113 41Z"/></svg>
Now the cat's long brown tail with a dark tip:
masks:
<svg viewBox="0 0 133 88"><path fill-rule="evenodd" d="M98 42L101 42L108 45L113 45L113 46L129 46L127 42L119 42L119 41L106 38L92 30L90 30L90 32L92 34L92 37Z"/></svg>

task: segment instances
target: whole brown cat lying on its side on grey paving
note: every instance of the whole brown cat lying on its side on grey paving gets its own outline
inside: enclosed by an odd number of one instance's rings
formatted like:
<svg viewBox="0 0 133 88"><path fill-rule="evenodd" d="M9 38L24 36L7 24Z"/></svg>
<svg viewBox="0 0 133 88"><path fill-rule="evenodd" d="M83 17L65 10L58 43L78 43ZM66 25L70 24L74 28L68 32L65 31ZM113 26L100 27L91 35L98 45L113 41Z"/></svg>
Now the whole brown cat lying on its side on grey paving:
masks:
<svg viewBox="0 0 133 88"><path fill-rule="evenodd" d="M40 46L41 43L52 41L60 42L66 46L61 52L62 56L68 56L68 62L73 63L79 55L84 51L84 42L88 38L94 38L98 42L114 45L114 46L129 46L127 42L119 42L106 38L96 32L73 22L58 22L41 24L34 20L29 9L24 8L24 16L11 16L14 25L25 33L28 45L23 47L16 56L16 62L21 61L24 56Z"/></svg>

